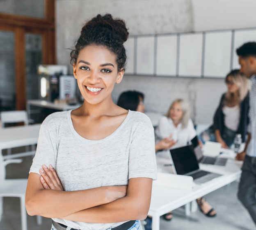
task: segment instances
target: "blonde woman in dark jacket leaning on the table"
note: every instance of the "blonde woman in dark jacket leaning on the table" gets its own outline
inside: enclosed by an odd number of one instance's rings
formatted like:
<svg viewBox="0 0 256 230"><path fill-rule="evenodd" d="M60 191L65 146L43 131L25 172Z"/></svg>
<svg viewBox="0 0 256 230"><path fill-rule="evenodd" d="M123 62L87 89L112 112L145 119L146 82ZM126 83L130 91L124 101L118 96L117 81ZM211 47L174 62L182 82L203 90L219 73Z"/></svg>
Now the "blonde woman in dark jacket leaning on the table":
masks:
<svg viewBox="0 0 256 230"><path fill-rule="evenodd" d="M213 126L201 134L201 140L217 141L223 148L228 148L233 144L237 133L241 134L245 142L250 82L239 70L232 70L227 74L225 83L228 91L220 99Z"/></svg>

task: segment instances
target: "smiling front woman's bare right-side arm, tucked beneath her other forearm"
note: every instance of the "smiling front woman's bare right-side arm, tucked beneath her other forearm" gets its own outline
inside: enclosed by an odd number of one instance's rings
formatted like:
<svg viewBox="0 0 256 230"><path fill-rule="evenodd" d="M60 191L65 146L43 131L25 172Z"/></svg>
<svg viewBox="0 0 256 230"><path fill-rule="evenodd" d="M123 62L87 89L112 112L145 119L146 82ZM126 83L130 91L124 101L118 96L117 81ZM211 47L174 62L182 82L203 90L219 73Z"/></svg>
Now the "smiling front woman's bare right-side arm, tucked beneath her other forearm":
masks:
<svg viewBox="0 0 256 230"><path fill-rule="evenodd" d="M132 188L130 188L129 194L128 186L127 196L62 218L87 223L116 223L146 219L151 200L152 179L133 178L130 180L133 180L132 183L129 183Z"/></svg>

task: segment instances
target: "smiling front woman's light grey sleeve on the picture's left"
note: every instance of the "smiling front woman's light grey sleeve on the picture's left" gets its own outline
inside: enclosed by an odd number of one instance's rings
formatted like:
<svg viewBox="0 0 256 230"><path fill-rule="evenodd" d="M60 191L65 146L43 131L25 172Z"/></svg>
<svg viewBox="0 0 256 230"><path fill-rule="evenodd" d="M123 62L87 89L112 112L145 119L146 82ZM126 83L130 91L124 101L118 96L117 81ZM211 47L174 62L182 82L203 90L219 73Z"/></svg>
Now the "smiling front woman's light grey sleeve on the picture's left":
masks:
<svg viewBox="0 0 256 230"><path fill-rule="evenodd" d="M56 166L57 141L56 135L49 131L46 124L41 124L39 138L37 142L37 151L34 156L29 173L39 174L42 165Z"/></svg>

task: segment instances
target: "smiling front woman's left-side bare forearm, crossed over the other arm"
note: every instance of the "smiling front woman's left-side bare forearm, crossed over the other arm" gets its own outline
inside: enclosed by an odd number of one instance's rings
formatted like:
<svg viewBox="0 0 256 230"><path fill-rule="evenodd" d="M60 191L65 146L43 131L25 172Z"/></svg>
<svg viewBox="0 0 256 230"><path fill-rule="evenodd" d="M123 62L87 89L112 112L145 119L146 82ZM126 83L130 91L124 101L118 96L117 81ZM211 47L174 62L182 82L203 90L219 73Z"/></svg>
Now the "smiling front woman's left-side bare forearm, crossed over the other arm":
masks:
<svg viewBox="0 0 256 230"><path fill-rule="evenodd" d="M29 215L60 217L95 207L126 195L126 186L105 186L80 191L43 189L39 174L30 174L26 191Z"/></svg>

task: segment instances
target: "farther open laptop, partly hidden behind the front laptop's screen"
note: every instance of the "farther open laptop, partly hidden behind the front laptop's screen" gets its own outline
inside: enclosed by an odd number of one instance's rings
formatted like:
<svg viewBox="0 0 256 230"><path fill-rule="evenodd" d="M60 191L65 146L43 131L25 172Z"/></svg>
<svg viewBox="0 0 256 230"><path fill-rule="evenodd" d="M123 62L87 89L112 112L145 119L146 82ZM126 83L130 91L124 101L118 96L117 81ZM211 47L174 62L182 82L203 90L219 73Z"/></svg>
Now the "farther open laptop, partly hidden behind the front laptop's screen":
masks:
<svg viewBox="0 0 256 230"><path fill-rule="evenodd" d="M194 147L194 153L197 157L197 161L201 164L206 165L218 165L218 166L226 166L226 162L228 158L216 158L216 157L210 157L210 156L203 156L203 152L201 150L201 147L198 143L197 136L195 136L192 140L192 145Z"/></svg>

